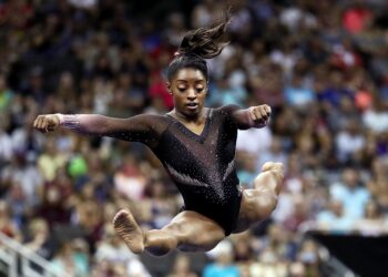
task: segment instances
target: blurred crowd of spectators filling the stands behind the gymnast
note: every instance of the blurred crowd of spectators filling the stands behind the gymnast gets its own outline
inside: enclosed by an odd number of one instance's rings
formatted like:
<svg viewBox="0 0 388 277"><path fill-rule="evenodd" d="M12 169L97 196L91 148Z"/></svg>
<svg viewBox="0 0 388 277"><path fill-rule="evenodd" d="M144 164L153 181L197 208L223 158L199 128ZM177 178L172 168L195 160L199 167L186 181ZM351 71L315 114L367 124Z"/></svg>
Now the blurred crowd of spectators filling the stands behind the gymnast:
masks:
<svg viewBox="0 0 388 277"><path fill-rule="evenodd" d="M388 233L387 1L160 2L0 0L0 232L76 277L315 277L321 255L306 232ZM178 254L156 275L111 225L121 207L143 228L180 211L150 150L32 122L170 111L164 71L182 35L229 6L207 105L272 106L268 127L239 132L238 177L251 187L264 162L283 162L284 188L272 218L195 268Z"/></svg>

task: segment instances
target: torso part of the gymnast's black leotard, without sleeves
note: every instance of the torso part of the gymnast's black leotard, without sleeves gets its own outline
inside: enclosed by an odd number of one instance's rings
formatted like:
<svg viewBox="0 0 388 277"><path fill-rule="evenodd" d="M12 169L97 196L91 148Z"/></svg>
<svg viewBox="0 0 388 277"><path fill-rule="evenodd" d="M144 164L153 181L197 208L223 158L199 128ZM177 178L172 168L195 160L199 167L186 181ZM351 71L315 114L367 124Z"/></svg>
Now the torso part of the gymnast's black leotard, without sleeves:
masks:
<svg viewBox="0 0 388 277"><path fill-rule="evenodd" d="M180 189L186 211L218 223L226 235L236 227L242 193L235 168L237 127L226 109L210 109L201 135L176 119L153 151Z"/></svg>

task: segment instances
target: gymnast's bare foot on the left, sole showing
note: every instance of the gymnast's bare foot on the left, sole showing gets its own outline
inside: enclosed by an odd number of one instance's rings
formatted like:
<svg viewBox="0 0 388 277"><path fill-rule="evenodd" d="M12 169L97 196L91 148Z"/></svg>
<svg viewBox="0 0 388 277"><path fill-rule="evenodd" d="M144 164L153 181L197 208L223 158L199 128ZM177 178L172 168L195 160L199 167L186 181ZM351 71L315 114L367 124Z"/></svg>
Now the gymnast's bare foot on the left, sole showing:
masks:
<svg viewBox="0 0 388 277"><path fill-rule="evenodd" d="M144 250L143 232L129 209L119 211L113 218L113 226L131 252L140 254Z"/></svg>

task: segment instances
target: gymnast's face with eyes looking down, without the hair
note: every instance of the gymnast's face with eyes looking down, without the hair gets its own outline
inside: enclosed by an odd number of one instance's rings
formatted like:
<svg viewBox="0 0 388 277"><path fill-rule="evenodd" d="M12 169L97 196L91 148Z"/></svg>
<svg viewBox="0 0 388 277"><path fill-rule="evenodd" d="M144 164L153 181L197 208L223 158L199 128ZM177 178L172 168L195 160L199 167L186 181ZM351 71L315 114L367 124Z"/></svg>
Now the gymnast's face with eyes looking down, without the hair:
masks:
<svg viewBox="0 0 388 277"><path fill-rule="evenodd" d="M187 117L201 114L207 94L207 80L200 70L178 70L167 82L167 89L173 95L176 112Z"/></svg>

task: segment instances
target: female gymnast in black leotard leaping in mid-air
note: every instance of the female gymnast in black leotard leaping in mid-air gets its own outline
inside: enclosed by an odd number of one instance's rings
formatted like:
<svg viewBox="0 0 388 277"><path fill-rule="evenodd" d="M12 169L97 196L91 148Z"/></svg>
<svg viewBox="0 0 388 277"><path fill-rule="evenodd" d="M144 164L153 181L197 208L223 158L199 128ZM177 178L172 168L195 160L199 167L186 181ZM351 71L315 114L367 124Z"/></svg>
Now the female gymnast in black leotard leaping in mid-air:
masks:
<svg viewBox="0 0 388 277"><path fill-rule="evenodd" d="M252 189L236 175L237 130L264 127L268 105L241 109L204 106L208 90L205 59L226 45L225 20L186 33L170 63L166 86L174 109L164 114L113 119L96 114L39 115L33 126L44 133L64 127L78 133L111 136L147 145L160 158L184 199L184 207L162 229L142 230L129 209L113 219L119 236L135 254L164 255L177 248L206 252L232 233L244 232L267 218L277 204L283 164L266 163Z"/></svg>

